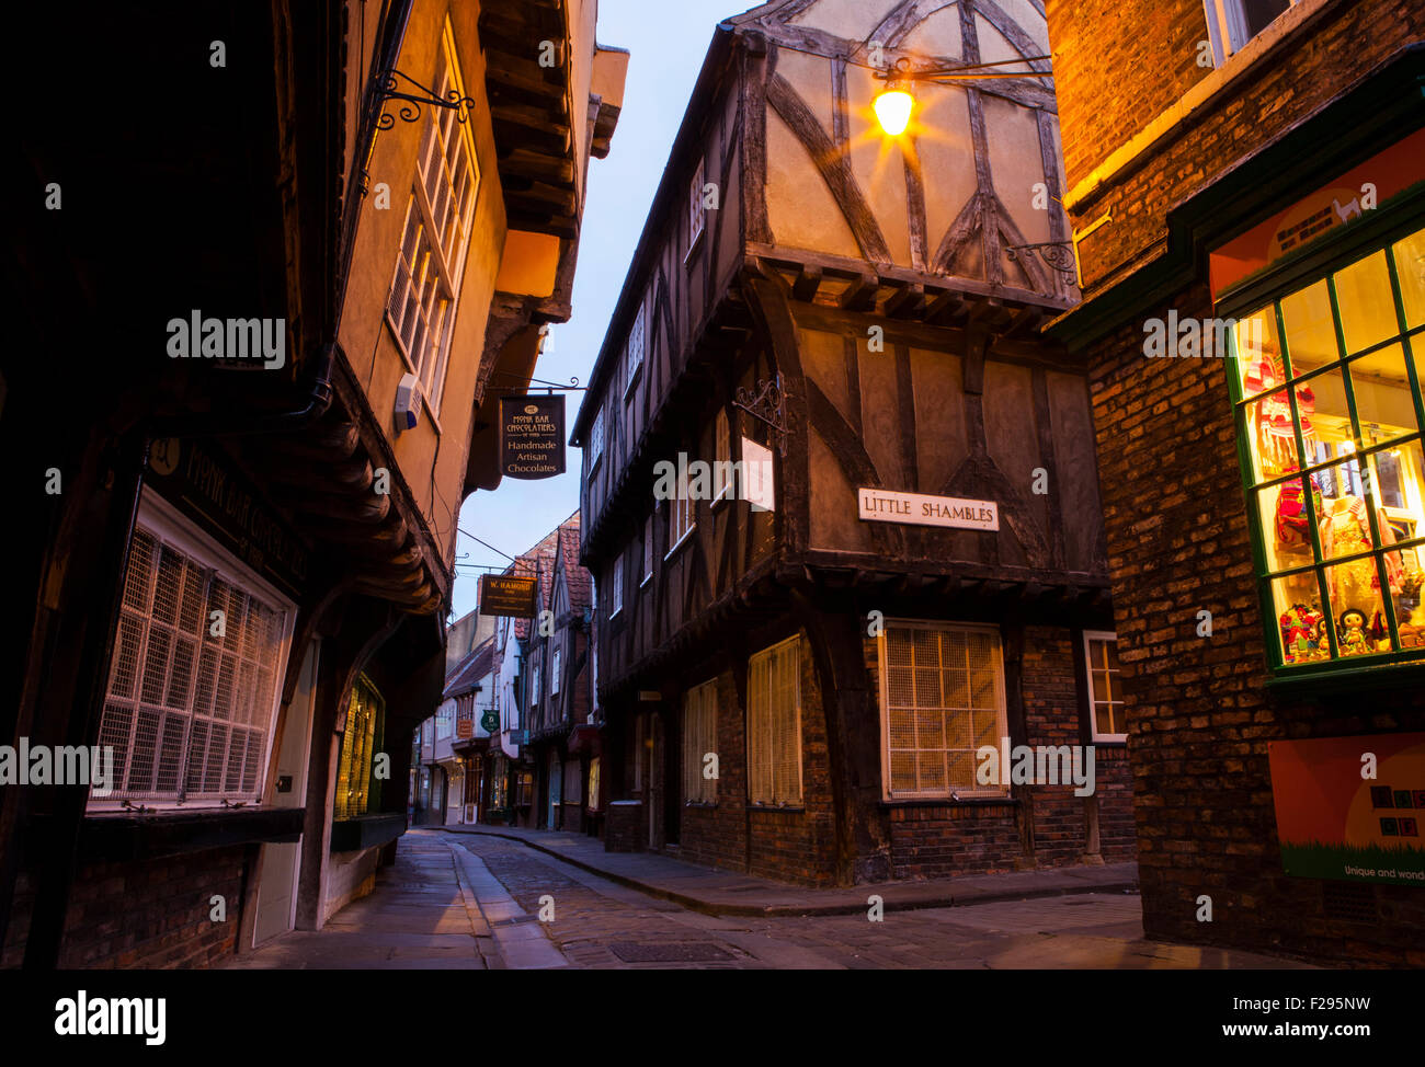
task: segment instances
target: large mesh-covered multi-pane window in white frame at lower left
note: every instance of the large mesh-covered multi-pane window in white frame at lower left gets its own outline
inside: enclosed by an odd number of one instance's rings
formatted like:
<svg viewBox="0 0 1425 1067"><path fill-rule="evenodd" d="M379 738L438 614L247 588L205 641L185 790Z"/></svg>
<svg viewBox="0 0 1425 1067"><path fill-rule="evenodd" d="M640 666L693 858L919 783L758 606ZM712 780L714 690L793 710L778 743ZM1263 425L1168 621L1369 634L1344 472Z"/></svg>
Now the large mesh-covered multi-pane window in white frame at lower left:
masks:
<svg viewBox="0 0 1425 1067"><path fill-rule="evenodd" d="M288 613L157 526L141 517L130 546L100 719L114 749L104 802L261 801Z"/></svg>

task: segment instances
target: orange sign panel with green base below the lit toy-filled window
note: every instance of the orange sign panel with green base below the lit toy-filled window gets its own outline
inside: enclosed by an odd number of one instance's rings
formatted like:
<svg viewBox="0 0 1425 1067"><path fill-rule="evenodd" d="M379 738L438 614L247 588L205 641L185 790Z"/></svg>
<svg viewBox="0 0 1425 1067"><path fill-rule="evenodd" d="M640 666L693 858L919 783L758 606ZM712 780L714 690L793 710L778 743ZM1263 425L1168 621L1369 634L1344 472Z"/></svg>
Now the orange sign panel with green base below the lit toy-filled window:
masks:
<svg viewBox="0 0 1425 1067"><path fill-rule="evenodd" d="M1267 759L1288 875L1425 888L1425 734L1273 741Z"/></svg>

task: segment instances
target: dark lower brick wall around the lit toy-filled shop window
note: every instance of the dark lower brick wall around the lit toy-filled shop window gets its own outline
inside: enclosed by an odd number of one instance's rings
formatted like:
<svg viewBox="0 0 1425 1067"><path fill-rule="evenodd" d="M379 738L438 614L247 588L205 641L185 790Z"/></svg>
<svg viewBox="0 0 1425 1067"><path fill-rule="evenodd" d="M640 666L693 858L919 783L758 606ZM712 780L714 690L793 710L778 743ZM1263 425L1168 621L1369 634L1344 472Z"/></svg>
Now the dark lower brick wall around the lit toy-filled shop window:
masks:
<svg viewBox="0 0 1425 1067"><path fill-rule="evenodd" d="M1171 306L1183 316L1211 313L1204 286ZM1147 369L1141 338L1141 326L1129 323L1093 348L1092 392L1144 932L1422 966L1425 892L1344 886L1374 912L1352 920L1332 917L1327 895L1337 888L1284 875L1267 744L1425 729L1425 694L1320 704L1268 695L1226 363L1163 359ZM1197 635L1200 610L1213 614L1211 637ZM1197 922L1200 895L1213 899L1211 923Z"/></svg>

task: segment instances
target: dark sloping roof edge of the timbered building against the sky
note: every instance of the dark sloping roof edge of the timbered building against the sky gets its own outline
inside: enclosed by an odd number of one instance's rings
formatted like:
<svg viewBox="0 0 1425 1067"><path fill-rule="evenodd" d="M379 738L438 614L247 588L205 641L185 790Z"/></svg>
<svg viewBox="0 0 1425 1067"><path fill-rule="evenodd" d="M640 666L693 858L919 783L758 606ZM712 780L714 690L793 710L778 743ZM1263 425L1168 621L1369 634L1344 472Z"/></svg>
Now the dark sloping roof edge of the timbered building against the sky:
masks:
<svg viewBox="0 0 1425 1067"><path fill-rule="evenodd" d="M598 348L598 358L594 360L594 368L589 375L589 385L584 389L583 403L580 403L579 412L574 415L574 426L570 432L569 443L576 449L583 449L584 432L593 420L593 407L590 406L590 400L591 397L603 393L603 386L608 375L613 372L613 365L616 362L610 352L613 348L613 339L621 338L626 323L633 319L634 305L638 302L634 298L634 293L637 293L638 299L641 299L643 283L646 282L646 275L650 268L651 248L656 238L663 236L664 218L677 205L673 175L674 172L678 172L680 168L675 164L681 162L683 157L688 151L688 142L693 140L691 130L694 118L701 120L714 91L721 85L722 77L731 66L734 54L732 41L735 37L737 28L730 20L718 23L712 31L712 40L708 44L707 54L703 57L703 68L698 71L698 80L693 85L693 94L688 97L688 105L683 113L683 121L678 124L678 132L673 138L673 147L668 150L668 160L663 165L663 177L658 179L658 189L654 192L648 215L643 222L643 234L638 236L638 245L634 248L633 259L628 261L628 272L624 275L624 283L618 293L618 302L614 305L613 315L608 316L608 328L604 332L603 345Z"/></svg>

